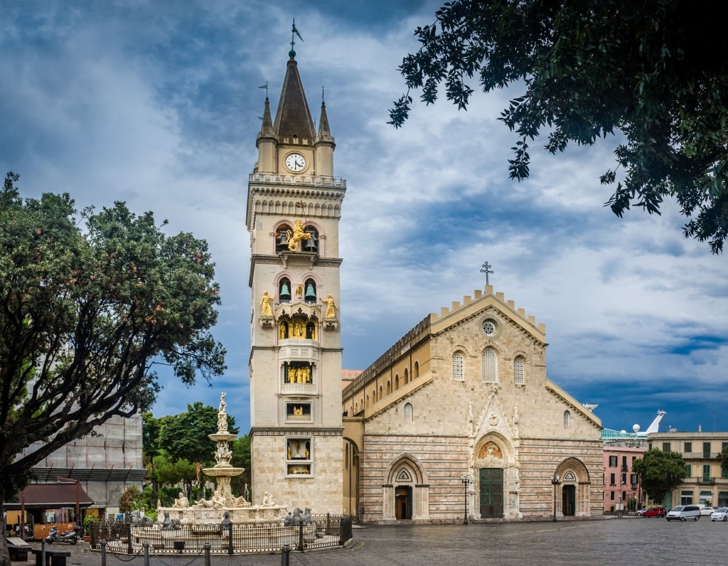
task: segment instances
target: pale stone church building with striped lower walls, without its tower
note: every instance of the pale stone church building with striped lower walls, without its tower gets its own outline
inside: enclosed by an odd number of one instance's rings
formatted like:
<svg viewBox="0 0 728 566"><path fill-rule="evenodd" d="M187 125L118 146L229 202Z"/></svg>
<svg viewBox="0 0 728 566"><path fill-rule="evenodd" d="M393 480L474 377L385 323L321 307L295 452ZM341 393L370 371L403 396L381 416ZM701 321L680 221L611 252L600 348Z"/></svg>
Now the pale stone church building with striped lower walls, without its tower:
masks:
<svg viewBox="0 0 728 566"><path fill-rule="evenodd" d="M491 286L425 318L344 388L345 508L373 522L452 522L466 501L471 519L601 515L601 422L547 378L546 347L545 326Z"/></svg>

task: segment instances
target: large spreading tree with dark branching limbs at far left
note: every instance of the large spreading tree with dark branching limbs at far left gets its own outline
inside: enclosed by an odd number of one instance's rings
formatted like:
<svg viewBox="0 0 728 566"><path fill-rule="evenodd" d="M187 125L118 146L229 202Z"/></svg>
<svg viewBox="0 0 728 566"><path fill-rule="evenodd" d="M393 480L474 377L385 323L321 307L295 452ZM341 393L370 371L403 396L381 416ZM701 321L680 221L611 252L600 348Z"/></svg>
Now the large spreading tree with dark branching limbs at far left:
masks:
<svg viewBox="0 0 728 566"><path fill-rule="evenodd" d="M0 506L56 449L149 409L155 363L186 384L225 369L204 240L167 236L124 203L23 200L17 181L8 173L0 191Z"/></svg>

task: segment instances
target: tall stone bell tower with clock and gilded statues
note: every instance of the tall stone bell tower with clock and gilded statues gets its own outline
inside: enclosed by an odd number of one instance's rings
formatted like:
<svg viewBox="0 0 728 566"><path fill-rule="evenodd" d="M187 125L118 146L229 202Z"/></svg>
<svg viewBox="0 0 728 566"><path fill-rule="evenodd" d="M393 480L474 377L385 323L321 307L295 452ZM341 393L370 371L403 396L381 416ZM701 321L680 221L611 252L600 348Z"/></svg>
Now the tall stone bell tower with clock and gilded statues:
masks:
<svg viewBox="0 0 728 566"><path fill-rule="evenodd" d="M293 28L296 33L295 26ZM296 52L275 119L266 93L248 179L250 449L253 503L341 513L339 219L325 103L314 128Z"/></svg>

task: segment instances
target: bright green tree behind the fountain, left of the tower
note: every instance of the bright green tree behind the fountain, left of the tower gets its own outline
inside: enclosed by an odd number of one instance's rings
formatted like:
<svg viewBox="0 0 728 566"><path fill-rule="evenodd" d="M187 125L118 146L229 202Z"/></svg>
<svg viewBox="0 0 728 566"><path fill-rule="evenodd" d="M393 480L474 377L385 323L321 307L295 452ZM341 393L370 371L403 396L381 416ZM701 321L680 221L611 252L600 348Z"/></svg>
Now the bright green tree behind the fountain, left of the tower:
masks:
<svg viewBox="0 0 728 566"><path fill-rule="evenodd" d="M164 417L159 429L159 446L170 460L189 460L203 465L215 463L215 443L207 438L218 431L218 409L195 401L186 412ZM228 431L237 434L235 417L228 415Z"/></svg>

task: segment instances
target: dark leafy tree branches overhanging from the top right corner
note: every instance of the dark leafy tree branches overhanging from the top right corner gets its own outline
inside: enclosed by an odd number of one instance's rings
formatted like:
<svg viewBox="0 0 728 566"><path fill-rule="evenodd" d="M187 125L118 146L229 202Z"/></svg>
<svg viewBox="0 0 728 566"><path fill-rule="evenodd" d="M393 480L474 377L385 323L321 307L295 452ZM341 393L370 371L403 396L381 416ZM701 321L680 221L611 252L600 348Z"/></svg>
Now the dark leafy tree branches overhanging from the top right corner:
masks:
<svg viewBox="0 0 728 566"><path fill-rule="evenodd" d="M629 0L521 2L454 0L436 21L416 28L422 44L400 66L407 92L389 111L403 125L413 89L422 101L446 97L467 109L477 80L485 93L513 85L499 117L518 140L510 177L529 176L529 141L547 132L545 149L591 146L617 132L614 184L606 205L660 213L675 198L686 237L713 253L728 237L728 47L717 2Z"/></svg>

